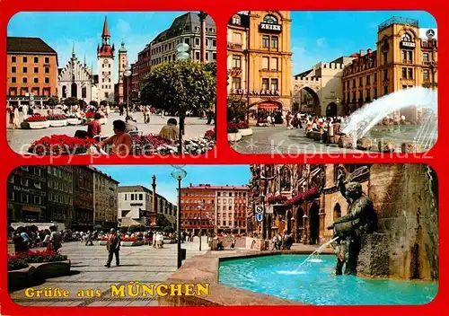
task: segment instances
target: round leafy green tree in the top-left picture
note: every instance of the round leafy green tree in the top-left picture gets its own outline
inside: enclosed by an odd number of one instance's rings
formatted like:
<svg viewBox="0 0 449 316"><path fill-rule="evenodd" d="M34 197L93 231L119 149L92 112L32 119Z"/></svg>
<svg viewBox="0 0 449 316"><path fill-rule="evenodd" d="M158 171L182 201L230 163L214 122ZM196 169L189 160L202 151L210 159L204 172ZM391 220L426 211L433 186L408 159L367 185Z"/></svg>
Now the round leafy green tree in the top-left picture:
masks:
<svg viewBox="0 0 449 316"><path fill-rule="evenodd" d="M187 110L208 110L216 98L214 66L192 60L175 60L152 68L140 92L143 104L178 113L183 131Z"/></svg>

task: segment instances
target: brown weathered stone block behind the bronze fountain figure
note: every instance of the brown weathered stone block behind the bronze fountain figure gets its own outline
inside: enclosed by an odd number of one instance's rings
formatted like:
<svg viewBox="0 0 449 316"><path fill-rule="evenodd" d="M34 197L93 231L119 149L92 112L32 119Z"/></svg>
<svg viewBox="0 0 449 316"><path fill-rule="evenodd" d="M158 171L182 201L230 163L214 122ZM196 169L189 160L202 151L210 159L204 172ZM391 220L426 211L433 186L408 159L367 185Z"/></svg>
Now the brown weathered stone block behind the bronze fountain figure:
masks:
<svg viewBox="0 0 449 316"><path fill-rule="evenodd" d="M360 275L438 278L438 214L431 172L424 164L371 167L368 196L379 229L362 241Z"/></svg>

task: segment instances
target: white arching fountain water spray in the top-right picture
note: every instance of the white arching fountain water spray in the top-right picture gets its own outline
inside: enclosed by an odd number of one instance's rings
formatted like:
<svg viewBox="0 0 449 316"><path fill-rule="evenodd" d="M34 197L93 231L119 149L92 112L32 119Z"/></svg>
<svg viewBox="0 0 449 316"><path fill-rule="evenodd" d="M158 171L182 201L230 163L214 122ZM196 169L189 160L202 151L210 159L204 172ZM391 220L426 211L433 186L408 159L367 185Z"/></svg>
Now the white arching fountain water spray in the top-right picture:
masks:
<svg viewBox="0 0 449 316"><path fill-rule="evenodd" d="M385 136L392 133L390 136L402 138L403 141L413 141L419 145L421 150L428 150L436 142L437 92L427 88L414 87L392 92L366 104L351 114L343 133L353 138L354 146L357 144L357 139L368 136L370 133L375 138L383 138L382 135L376 135L383 128L373 130L373 127L388 115L410 107L427 115L427 118L421 119L423 124L418 127L418 130L416 127L399 126L393 128L393 133L392 130L389 130ZM397 132L396 135L394 132Z"/></svg>

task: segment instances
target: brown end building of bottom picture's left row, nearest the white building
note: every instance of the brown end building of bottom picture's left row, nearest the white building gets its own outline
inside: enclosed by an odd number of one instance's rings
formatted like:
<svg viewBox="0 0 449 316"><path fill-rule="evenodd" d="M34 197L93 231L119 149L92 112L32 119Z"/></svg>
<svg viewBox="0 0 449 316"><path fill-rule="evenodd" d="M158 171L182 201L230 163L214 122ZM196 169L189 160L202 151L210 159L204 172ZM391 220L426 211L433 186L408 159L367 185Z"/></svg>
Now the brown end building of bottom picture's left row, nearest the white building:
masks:
<svg viewBox="0 0 449 316"><path fill-rule="evenodd" d="M93 172L93 224L104 230L117 228L119 182L94 169Z"/></svg>

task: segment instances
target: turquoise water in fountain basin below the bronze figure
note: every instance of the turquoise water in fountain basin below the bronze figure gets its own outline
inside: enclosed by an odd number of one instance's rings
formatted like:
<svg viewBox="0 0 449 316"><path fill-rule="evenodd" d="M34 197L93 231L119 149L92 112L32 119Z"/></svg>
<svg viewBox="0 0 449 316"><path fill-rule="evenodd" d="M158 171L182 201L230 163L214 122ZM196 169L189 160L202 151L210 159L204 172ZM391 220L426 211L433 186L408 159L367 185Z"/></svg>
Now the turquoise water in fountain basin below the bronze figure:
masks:
<svg viewBox="0 0 449 316"><path fill-rule="evenodd" d="M219 283L313 305L425 304L437 293L436 282L332 276L334 255L321 255L298 266L307 255L275 255L220 261Z"/></svg>

